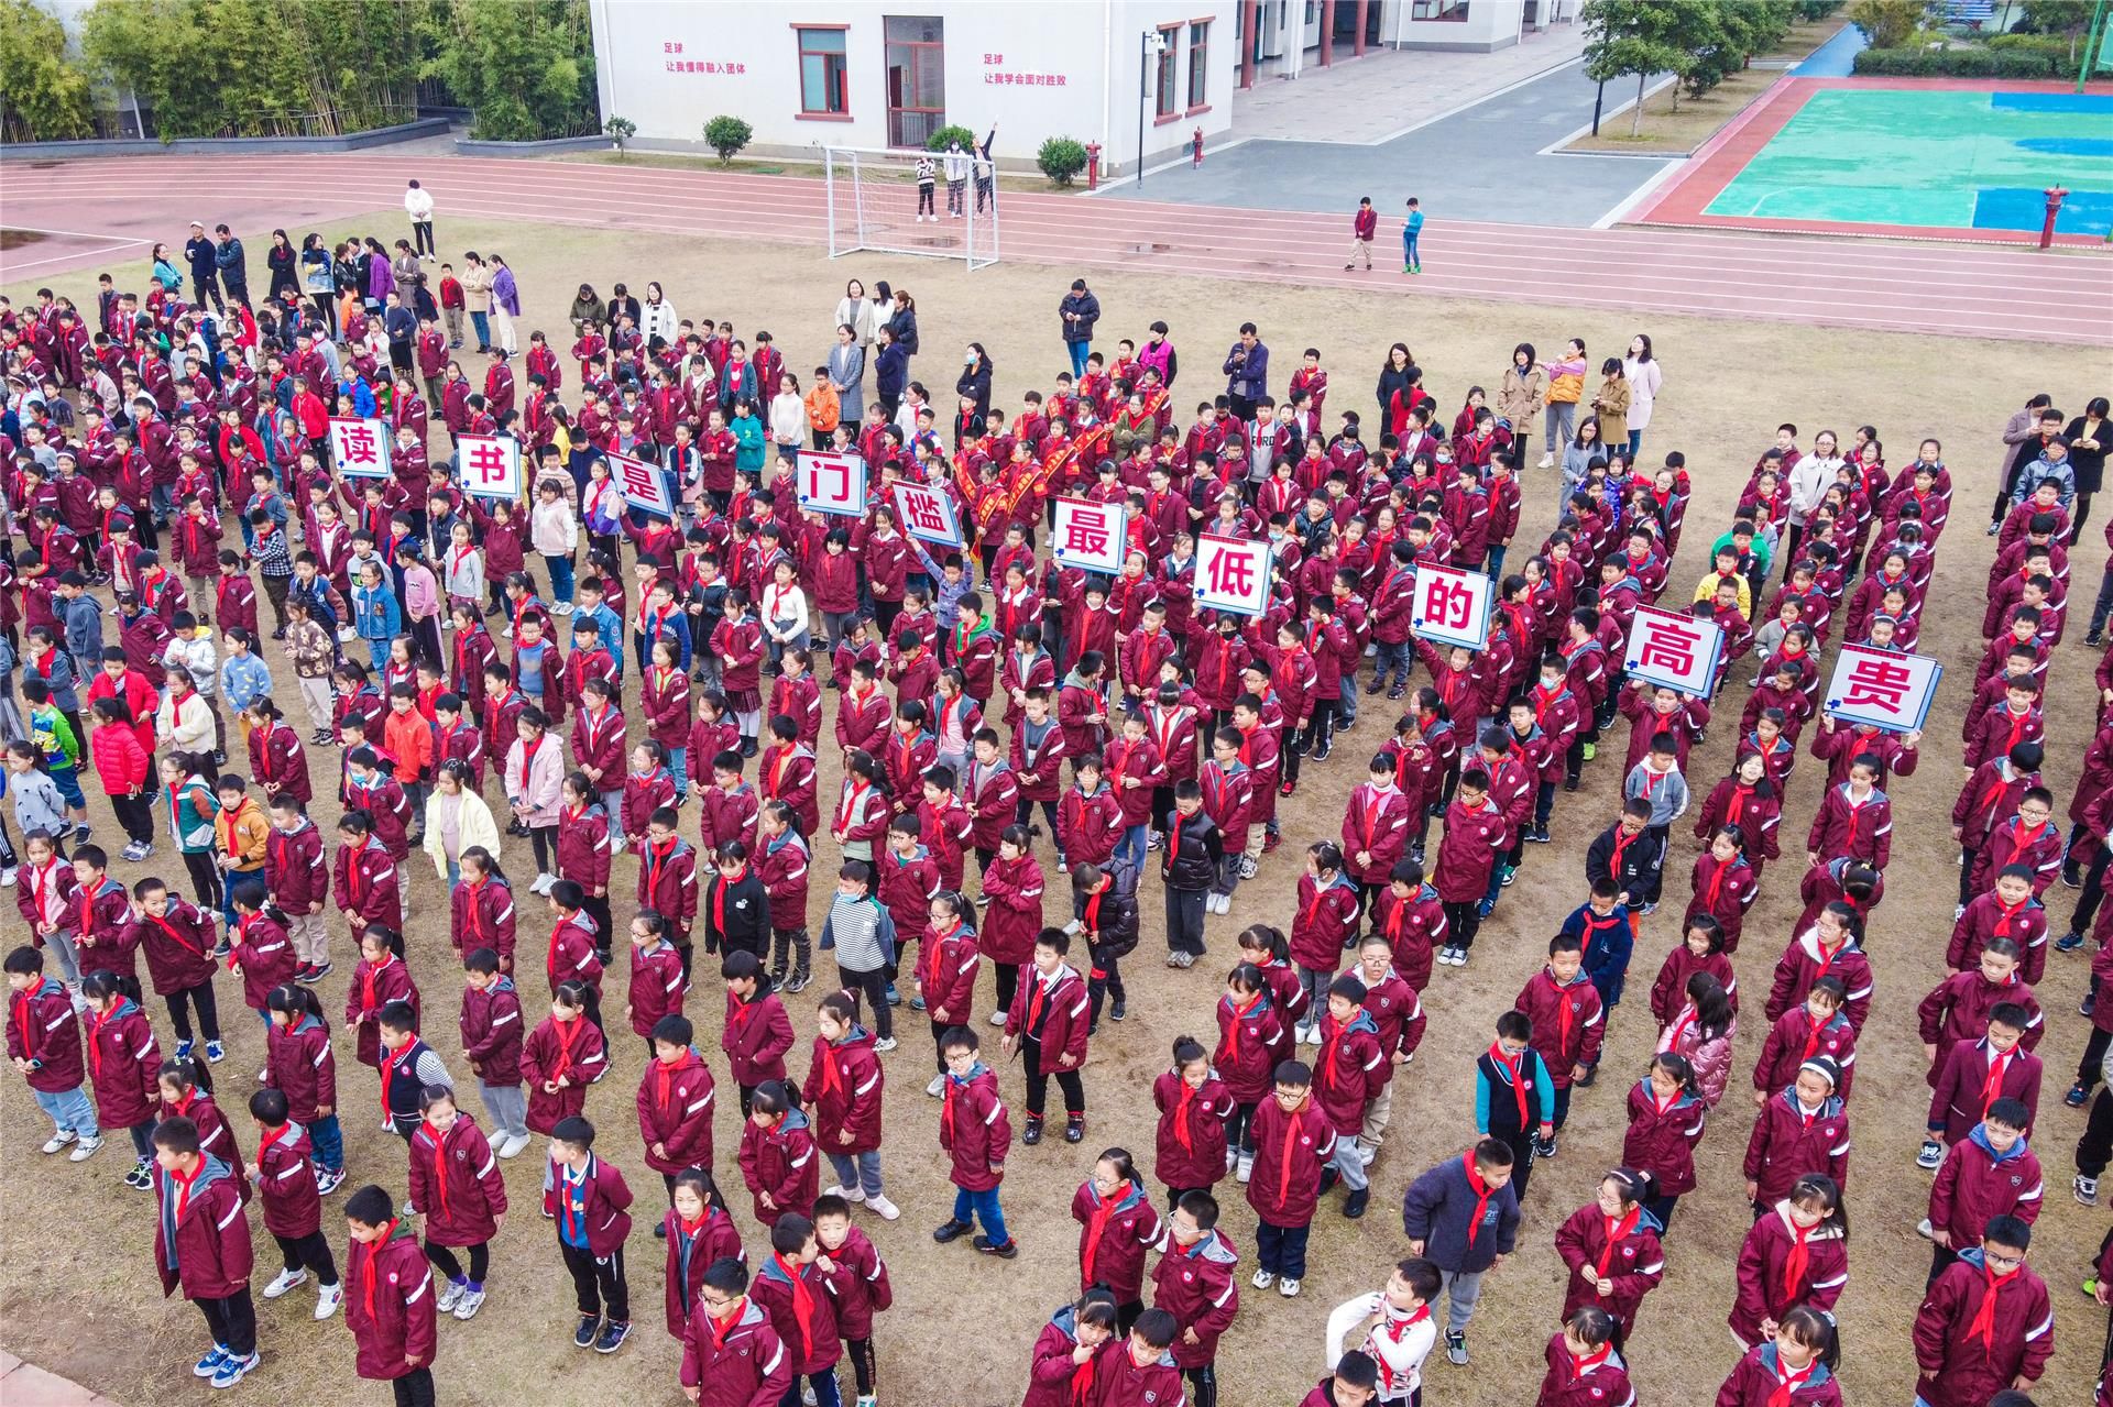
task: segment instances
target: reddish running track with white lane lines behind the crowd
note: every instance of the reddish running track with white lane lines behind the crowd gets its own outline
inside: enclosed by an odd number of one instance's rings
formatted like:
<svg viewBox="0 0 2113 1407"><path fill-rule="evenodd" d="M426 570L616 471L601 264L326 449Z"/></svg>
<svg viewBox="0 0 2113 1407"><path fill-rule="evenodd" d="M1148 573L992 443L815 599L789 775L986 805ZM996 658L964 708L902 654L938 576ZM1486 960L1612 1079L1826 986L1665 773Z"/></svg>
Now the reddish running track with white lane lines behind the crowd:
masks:
<svg viewBox="0 0 2113 1407"><path fill-rule="evenodd" d="M180 243L192 218L258 211L283 224L395 209L418 177L440 220L541 220L721 239L826 243L820 180L471 156L118 156L0 167L0 209L19 228L80 234L78 258L55 241L42 270L144 258ZM190 194L177 194L190 192ZM298 220L296 211L298 209ZM1323 287L1437 294L1695 317L1754 317L1828 327L2113 344L2113 260L2092 254L1944 247L1881 241L1773 239L1703 230L1545 230L1439 218L1424 232L1414 281L1346 273L1346 222L1333 215L1004 196L1006 260ZM930 241L942 251L949 226ZM91 243L106 241L106 243ZM11 260L0 258L0 275ZM25 268L23 277L38 275Z"/></svg>

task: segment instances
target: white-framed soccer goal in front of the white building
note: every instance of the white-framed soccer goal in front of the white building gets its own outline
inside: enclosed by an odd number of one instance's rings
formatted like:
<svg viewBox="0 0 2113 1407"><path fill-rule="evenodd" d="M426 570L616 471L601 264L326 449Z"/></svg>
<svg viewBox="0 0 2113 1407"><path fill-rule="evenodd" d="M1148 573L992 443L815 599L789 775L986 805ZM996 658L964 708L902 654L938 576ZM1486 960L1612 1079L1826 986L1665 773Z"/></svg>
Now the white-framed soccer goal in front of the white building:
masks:
<svg viewBox="0 0 2113 1407"><path fill-rule="evenodd" d="M932 163L932 186L917 163ZM828 186L828 254L928 254L970 268L997 262L997 173L974 152L822 148Z"/></svg>

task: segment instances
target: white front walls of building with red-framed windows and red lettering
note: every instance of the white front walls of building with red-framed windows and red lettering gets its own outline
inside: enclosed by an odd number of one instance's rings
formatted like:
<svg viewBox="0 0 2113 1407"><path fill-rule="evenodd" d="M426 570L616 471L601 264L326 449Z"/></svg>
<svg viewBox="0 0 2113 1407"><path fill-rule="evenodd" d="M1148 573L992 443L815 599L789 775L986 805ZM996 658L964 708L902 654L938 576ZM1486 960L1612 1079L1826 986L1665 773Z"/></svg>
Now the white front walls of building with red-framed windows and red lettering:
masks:
<svg viewBox="0 0 2113 1407"><path fill-rule="evenodd" d="M594 0L602 116L638 123L638 146L702 148L704 125L731 114L754 129L750 152L811 154L816 146L890 146L885 17L942 21L945 120L980 137L997 125L995 158L1033 167L1046 137L1103 146L1103 165L1128 171L1145 112L1145 161L1185 150L1202 127L1232 127L1238 80L1236 0L1101 0L1063 4L947 4L835 0L833 4L697 4ZM1190 38L1209 23L1204 104L1192 108ZM1145 108L1139 40L1171 27L1175 112ZM841 27L847 114L801 112L801 27Z"/></svg>

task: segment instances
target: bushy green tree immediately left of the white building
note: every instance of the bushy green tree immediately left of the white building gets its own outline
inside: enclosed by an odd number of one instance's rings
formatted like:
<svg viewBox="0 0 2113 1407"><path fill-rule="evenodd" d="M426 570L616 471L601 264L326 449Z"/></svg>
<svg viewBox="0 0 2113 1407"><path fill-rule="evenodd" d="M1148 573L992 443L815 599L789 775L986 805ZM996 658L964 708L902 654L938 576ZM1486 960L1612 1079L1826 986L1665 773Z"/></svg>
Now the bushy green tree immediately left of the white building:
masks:
<svg viewBox="0 0 2113 1407"><path fill-rule="evenodd" d="M537 142L600 131L587 0L450 0L427 11L427 78L471 110L469 135Z"/></svg>

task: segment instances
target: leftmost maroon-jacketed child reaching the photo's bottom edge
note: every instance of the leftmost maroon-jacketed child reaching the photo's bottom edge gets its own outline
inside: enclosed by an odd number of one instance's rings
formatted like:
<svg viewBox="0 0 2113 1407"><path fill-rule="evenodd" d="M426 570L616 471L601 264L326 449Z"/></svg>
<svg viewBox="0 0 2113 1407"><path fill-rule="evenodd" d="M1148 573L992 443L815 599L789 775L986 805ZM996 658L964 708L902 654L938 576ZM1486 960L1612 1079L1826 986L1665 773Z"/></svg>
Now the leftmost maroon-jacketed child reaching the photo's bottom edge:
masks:
<svg viewBox="0 0 2113 1407"><path fill-rule="evenodd" d="M397 1407L433 1407L433 1348L440 1303L433 1272L408 1219L372 1183L344 1200L351 1295L344 1325L359 1348L357 1373L387 1382Z"/></svg>

